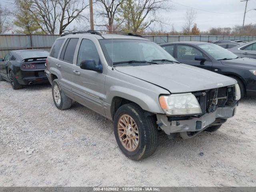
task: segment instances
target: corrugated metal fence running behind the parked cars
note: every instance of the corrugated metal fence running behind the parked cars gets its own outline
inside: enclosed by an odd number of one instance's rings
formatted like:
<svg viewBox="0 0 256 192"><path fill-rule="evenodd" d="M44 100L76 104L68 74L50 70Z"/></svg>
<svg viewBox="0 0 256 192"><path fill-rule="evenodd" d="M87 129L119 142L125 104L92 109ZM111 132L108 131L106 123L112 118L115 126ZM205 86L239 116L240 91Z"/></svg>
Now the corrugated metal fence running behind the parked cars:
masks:
<svg viewBox="0 0 256 192"><path fill-rule="evenodd" d="M52 44L59 35L14 35L4 34L0 35L0 57L4 57L10 50L17 49L44 49L50 51ZM176 42L176 41L204 41L210 42L213 40L256 40L256 36L213 36L213 35L199 35L199 36L144 36L156 43Z"/></svg>

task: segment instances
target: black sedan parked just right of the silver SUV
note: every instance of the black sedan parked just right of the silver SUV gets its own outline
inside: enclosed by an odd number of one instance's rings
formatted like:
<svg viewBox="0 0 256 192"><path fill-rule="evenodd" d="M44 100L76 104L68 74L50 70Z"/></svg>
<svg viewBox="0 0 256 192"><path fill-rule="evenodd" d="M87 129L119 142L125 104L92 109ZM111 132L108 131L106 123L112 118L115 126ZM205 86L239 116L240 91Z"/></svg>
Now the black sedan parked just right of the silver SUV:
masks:
<svg viewBox="0 0 256 192"><path fill-rule="evenodd" d="M239 57L216 44L199 41L160 46L181 63L236 79L242 97L256 96L256 59Z"/></svg>

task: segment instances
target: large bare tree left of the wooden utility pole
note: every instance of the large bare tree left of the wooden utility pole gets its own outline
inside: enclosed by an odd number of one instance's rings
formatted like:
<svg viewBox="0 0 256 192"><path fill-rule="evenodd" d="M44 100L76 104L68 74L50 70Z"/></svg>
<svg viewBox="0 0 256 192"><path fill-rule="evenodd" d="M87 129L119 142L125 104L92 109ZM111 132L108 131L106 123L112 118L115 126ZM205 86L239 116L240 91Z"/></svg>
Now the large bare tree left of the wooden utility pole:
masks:
<svg viewBox="0 0 256 192"><path fill-rule="evenodd" d="M84 0L30 0L29 10L38 20L41 30L54 34L68 31L68 25L74 20L80 21L85 16L82 12L89 6ZM39 17L39 18L38 18Z"/></svg>

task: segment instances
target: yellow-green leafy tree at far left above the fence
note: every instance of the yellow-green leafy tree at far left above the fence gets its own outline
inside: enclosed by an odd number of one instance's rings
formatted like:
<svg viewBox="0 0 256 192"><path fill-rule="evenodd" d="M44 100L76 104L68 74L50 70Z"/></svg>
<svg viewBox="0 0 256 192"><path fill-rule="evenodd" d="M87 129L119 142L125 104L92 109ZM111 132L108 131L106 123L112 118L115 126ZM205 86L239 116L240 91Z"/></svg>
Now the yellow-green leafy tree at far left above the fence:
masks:
<svg viewBox="0 0 256 192"><path fill-rule="evenodd" d="M40 21L31 15L31 12L28 10L28 6L31 6L29 0L15 0L14 1L17 12L14 14L13 24L16 25L19 30L16 30L17 33L23 34L44 34L39 25Z"/></svg>

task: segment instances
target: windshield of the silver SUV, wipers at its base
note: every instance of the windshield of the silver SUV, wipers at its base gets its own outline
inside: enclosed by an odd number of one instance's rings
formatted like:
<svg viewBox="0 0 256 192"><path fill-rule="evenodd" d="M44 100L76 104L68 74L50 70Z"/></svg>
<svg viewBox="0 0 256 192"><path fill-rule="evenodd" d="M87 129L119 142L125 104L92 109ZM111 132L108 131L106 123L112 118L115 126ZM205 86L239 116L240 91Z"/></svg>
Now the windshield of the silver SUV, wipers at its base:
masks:
<svg viewBox="0 0 256 192"><path fill-rule="evenodd" d="M135 61L136 65L177 62L162 47L147 40L104 39L100 40L100 45L110 66L112 66L112 62L113 64L120 64L120 62L126 61L130 61L126 64L132 64L132 61Z"/></svg>

